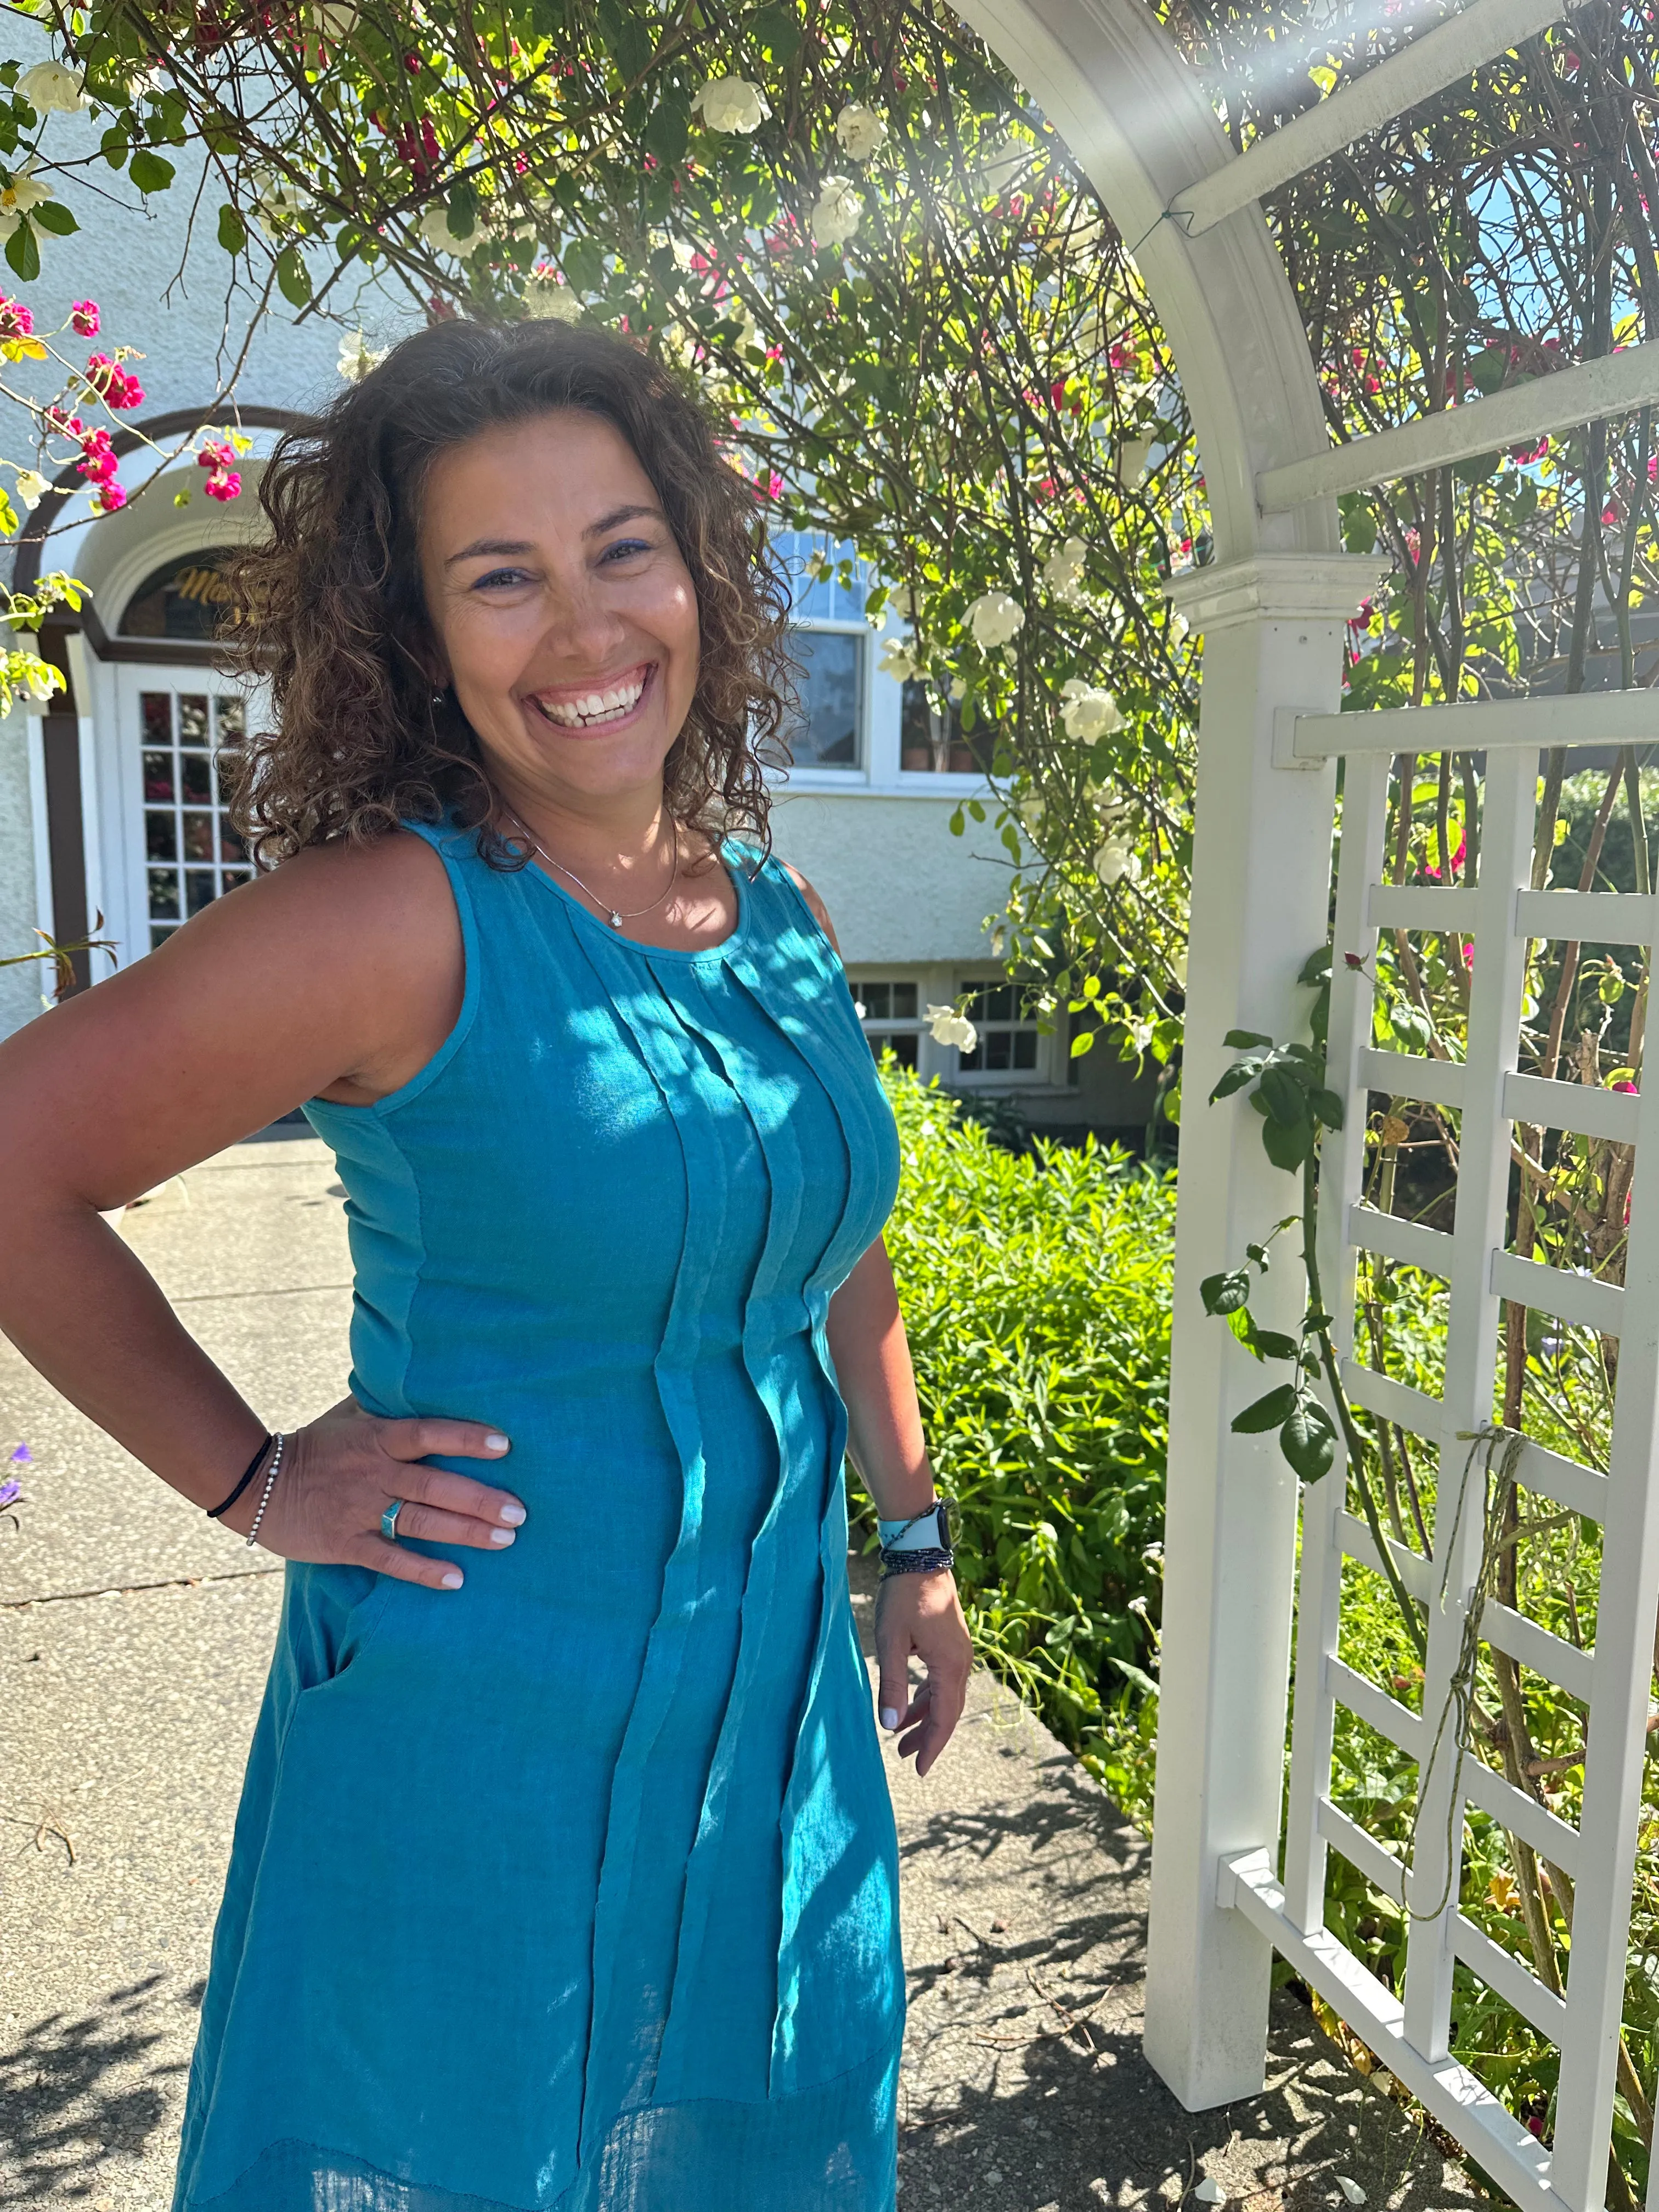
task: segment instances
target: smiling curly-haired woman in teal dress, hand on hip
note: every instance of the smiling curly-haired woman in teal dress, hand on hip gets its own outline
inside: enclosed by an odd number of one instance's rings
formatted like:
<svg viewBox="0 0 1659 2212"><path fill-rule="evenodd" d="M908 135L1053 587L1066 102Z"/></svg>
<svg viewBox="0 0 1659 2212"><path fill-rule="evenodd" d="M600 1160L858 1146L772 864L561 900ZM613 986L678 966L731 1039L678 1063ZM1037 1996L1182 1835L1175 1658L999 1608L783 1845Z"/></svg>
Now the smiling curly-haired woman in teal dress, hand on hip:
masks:
<svg viewBox="0 0 1659 2212"><path fill-rule="evenodd" d="M261 498L263 865L0 1046L0 1327L288 1559L177 2212L891 2212L845 1451L918 1774L969 1646L752 498L549 323L407 341ZM301 1104L352 1371L272 1438L100 1212Z"/></svg>

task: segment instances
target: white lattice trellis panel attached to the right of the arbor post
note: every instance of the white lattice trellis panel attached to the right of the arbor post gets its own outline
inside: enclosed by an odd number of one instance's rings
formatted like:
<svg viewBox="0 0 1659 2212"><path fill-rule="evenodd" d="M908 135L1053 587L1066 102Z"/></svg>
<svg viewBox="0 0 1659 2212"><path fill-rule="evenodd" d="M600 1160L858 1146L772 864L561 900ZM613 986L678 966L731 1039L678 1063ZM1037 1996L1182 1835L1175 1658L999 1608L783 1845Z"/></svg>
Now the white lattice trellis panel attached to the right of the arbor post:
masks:
<svg viewBox="0 0 1659 2212"><path fill-rule="evenodd" d="M1551 701L1559 712L1566 703ZM1522 2203L1593 2212L1604 2205L1617 2037L1626 1980L1626 1933L1641 1814L1648 1674L1659 1584L1659 1115L1648 1097L1517 1071L1526 940L1652 945L1655 909L1644 896L1533 891L1537 726L1480 714L1489 750L1478 883L1473 887L1385 885L1383 838L1389 761L1436 752L1469 710L1325 717L1321 750L1349 752L1343 858L1336 898L1329 1086L1343 1093L1345 1128L1327 1137L1321 1175L1321 1272L1336 1314L1345 1380L1356 1405L1422 1438L1440 1460L1433 1555L1389 1540L1407 1588L1429 1619L1422 1717L1338 1657L1343 1562L1380 1573L1376 1544L1347 1511L1338 1469L1303 1493L1298 1663L1292 1783L1283 1882L1270 1854L1223 1867L1223 1902L1237 1905L1325 1995L1396 2075L1425 2099ZM1385 750L1387 748L1387 750ZM1462 748L1460 748L1462 750ZM1378 1051L1374 951L1378 929L1436 931L1473 942L1467 1060ZM1349 964L1358 953L1365 967ZM1367 1095L1431 1102L1462 1117L1455 1228L1451 1234L1376 1212L1360 1201ZM1511 1124L1526 1121L1635 1144L1624 1287L1520 1259L1506 1243ZM1449 1285L1444 1389L1433 1398L1354 1358L1358 1254L1380 1254ZM1458 1761L1453 1730L1433 1752L1436 1723L1458 1668L1469 1599L1480 1571L1484 1453L1475 1431L1491 1425L1500 1305L1513 1298L1568 1325L1619 1338L1613 1453L1606 1475L1535 1442L1522 1447L1517 1480L1604 1528L1601 1595L1593 1655L1489 1599L1482 1641L1557 1683L1588 1708L1588 1754L1579 1825L1557 1818L1475 1756ZM1467 1482L1464 1511L1458 1486ZM1444 1590L1444 1597L1442 1597ZM1332 1741L1345 1708L1418 1765L1420 1814L1409 1876L1332 1803ZM1455 1803L1453 1803L1455 1792ZM1566 1993L1555 1995L1515 1955L1458 1909L1464 1803L1491 1814L1577 1887ZM1411 1907L1405 1991L1389 1991L1323 1924L1325 1858L1343 1854L1378 1891ZM1438 1911L1436 1902L1444 1900ZM1559 2099L1546 2150L1449 2051L1453 1962L1522 2013L1559 2048ZM1659 2170L1659 2161L1657 2161ZM1659 2205L1650 2188L1648 2205Z"/></svg>

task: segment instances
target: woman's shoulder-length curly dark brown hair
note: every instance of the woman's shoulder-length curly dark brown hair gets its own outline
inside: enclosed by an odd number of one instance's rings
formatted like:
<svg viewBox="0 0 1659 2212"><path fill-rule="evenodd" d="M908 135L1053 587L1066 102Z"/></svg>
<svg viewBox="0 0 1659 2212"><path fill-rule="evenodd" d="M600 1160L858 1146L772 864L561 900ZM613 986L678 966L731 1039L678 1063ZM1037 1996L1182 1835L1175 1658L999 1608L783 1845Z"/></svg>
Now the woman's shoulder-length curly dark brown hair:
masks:
<svg viewBox="0 0 1659 2212"><path fill-rule="evenodd" d="M367 843L447 812L495 867L526 854L495 801L453 692L431 697L434 639L416 533L427 473L502 422L580 407L639 456L697 591L701 657L668 750L670 814L765 849L763 765L787 759L787 586L752 489L664 363L562 323L438 323L396 345L332 407L285 431L259 487L270 535L228 564L232 666L272 688L276 728L226 761L232 818L261 863L334 838Z"/></svg>

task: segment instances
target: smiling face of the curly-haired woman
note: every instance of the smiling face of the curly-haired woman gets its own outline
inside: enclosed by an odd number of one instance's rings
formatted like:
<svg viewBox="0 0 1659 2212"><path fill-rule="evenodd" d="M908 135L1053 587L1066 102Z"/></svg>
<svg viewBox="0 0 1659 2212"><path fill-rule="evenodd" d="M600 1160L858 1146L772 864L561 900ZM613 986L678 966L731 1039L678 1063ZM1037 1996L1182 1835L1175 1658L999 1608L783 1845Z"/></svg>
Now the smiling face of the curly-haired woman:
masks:
<svg viewBox="0 0 1659 2212"><path fill-rule="evenodd" d="M661 790L697 692L697 593L650 478L577 409L482 431L427 478L420 577L509 799Z"/></svg>

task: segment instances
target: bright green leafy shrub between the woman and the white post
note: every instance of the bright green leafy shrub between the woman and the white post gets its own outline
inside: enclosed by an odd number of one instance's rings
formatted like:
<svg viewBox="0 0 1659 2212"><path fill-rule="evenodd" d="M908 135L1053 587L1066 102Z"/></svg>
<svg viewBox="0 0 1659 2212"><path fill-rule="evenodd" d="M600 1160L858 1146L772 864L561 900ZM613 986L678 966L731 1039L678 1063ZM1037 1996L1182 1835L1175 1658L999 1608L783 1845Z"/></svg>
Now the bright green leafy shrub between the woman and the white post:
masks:
<svg viewBox="0 0 1659 2212"><path fill-rule="evenodd" d="M980 1657L1150 1814L1175 1179L1119 1150L1000 1148L885 1066L905 1179L887 1245Z"/></svg>

